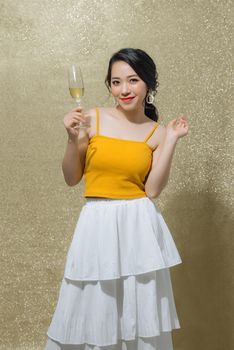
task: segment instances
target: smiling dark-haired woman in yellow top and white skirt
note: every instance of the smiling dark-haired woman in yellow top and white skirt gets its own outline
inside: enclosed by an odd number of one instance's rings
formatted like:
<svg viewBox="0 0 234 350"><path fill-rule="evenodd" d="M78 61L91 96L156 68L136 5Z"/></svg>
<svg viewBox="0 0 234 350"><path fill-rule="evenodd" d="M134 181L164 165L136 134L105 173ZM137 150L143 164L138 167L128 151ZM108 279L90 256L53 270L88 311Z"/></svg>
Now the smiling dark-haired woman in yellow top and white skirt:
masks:
<svg viewBox="0 0 234 350"><path fill-rule="evenodd" d="M86 201L46 350L173 349L180 323L169 268L182 261L153 199L168 182L188 121L157 122L157 76L146 52L122 49L106 77L115 107L74 108L64 117L64 179L75 186L84 176Z"/></svg>

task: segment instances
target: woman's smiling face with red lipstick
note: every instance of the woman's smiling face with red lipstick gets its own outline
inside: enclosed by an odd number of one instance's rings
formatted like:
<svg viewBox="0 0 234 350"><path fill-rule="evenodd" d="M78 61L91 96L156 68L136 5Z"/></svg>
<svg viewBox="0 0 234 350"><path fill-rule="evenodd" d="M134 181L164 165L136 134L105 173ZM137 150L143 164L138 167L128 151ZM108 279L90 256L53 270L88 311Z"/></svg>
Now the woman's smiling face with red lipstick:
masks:
<svg viewBox="0 0 234 350"><path fill-rule="evenodd" d="M131 110L144 106L147 85L128 63L113 63L110 88L113 97L123 109Z"/></svg>

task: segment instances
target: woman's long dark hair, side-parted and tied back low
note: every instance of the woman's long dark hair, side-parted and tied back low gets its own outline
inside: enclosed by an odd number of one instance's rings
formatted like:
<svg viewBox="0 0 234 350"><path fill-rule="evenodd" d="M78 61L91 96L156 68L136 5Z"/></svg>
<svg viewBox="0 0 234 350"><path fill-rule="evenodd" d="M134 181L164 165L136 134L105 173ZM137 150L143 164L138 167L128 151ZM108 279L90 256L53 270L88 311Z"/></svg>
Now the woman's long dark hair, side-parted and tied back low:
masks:
<svg viewBox="0 0 234 350"><path fill-rule="evenodd" d="M111 69L113 63L116 61L125 61L128 63L132 69L137 73L137 75L146 83L147 93L149 90L152 91L153 95L157 93L158 73L156 65L152 58L141 49L124 48L115 52L109 61L108 71L105 79L105 84L110 91L111 86ZM150 119L157 121L158 110L153 104L149 104L145 98L145 114Z"/></svg>

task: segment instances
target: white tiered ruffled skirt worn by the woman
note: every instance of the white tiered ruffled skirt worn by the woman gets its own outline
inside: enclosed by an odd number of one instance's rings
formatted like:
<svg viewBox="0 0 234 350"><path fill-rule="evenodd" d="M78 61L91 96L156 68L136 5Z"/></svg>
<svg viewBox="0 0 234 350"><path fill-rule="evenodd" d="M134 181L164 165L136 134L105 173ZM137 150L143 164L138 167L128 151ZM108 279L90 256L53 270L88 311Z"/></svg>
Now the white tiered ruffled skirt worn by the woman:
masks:
<svg viewBox="0 0 234 350"><path fill-rule="evenodd" d="M173 350L169 268L181 262L151 199L87 198L44 349Z"/></svg>

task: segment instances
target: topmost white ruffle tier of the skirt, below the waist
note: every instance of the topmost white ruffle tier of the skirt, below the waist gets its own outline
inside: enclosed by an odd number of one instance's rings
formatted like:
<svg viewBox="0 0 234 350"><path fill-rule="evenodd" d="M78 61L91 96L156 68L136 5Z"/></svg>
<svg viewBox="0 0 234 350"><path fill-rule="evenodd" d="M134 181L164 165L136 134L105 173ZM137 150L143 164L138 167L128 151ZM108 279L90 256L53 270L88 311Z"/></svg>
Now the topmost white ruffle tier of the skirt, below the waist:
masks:
<svg viewBox="0 0 234 350"><path fill-rule="evenodd" d="M181 263L153 201L144 197L108 203L92 200L82 208L68 252L66 278L111 280Z"/></svg>

